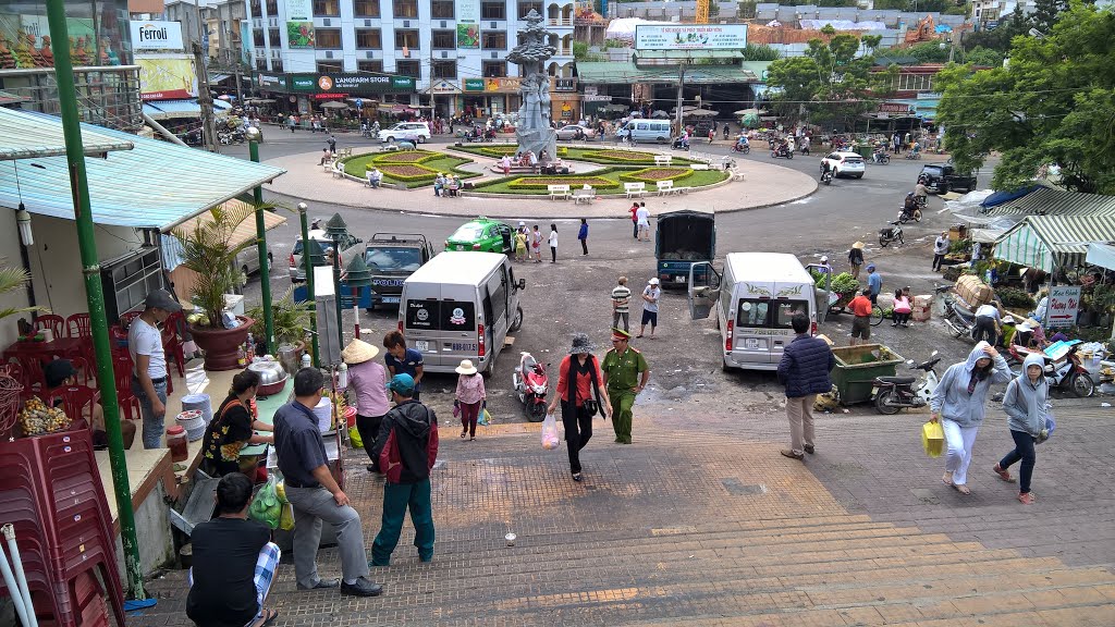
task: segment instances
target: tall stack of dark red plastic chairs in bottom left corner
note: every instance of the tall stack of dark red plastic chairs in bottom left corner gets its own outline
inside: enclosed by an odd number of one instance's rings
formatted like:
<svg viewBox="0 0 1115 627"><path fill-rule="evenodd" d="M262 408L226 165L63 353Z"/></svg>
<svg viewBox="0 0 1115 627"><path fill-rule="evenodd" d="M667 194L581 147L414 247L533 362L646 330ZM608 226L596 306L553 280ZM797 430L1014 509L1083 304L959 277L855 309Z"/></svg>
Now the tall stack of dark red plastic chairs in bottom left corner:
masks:
<svg viewBox="0 0 1115 627"><path fill-rule="evenodd" d="M88 430L0 443L0 521L16 527L39 625L125 625L115 536ZM107 589L106 589L107 588Z"/></svg>

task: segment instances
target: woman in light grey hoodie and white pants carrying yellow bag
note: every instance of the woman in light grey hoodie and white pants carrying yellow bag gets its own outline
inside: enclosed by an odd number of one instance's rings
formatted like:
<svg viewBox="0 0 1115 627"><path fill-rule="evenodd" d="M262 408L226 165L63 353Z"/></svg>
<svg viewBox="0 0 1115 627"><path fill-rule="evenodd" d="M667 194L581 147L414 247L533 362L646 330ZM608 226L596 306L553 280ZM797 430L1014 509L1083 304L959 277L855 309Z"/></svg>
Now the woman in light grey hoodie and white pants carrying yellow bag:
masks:
<svg viewBox="0 0 1115 627"><path fill-rule="evenodd" d="M944 457L944 476L941 481L961 494L968 489L968 466L972 462L976 434L983 424L983 404L992 383L1010 380L1010 367L999 351L986 341L972 348L968 359L949 366L933 390L929 408L932 422L941 419L944 443L949 451Z"/></svg>

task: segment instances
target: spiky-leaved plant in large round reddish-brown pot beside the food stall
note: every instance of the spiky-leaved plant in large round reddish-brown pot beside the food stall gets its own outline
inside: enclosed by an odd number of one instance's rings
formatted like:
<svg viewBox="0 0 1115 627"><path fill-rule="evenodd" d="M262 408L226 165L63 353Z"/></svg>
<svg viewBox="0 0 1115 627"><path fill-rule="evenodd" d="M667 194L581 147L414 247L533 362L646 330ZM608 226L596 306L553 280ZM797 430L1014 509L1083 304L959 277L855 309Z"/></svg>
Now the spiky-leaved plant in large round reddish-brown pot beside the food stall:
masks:
<svg viewBox="0 0 1115 627"><path fill-rule="evenodd" d="M187 321L194 341L205 351L207 370L240 367L236 349L248 339L254 322L251 318L236 316L235 327L225 328L223 324L225 295L233 293L241 283L236 254L255 245L253 240L236 245L229 242L236 226L254 212L255 208L246 204L217 206L210 210L211 220L198 221L188 231L175 231L182 240L182 264L196 274L191 301L201 312L191 315Z"/></svg>

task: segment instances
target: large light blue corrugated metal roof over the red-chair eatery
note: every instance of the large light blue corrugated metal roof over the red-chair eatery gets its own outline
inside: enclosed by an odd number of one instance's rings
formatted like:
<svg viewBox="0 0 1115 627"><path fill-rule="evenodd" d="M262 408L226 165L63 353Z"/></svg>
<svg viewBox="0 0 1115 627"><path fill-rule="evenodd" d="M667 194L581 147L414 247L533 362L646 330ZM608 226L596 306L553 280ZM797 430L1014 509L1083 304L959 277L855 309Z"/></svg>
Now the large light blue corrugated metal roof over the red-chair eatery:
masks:
<svg viewBox="0 0 1115 627"><path fill-rule="evenodd" d="M27 120L25 126L55 124L61 129L57 117L16 113ZM99 126L81 127L135 146L108 153L106 158L86 160L93 220L98 224L166 231L287 172ZM18 142L23 132L22 127L16 128L14 135L0 142ZM31 213L74 220L65 156L22 161L19 186ZM19 202L12 162L0 162L0 206L16 208Z"/></svg>

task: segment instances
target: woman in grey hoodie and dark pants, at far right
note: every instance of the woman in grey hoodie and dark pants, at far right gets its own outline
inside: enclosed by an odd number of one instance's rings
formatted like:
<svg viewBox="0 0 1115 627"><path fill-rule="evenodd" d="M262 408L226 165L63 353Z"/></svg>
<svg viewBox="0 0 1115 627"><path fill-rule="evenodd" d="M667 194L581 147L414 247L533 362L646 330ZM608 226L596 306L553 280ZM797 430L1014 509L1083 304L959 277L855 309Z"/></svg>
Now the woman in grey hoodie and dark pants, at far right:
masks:
<svg viewBox="0 0 1115 627"><path fill-rule="evenodd" d="M1021 480L1018 484L1018 500L1029 505L1034 502L1030 492L1030 476L1034 474L1034 463L1037 453L1034 444L1048 437L1046 431L1046 399L1049 397L1049 383L1045 378L1045 356L1031 354L1022 361L1022 374L1007 386L1002 398L1002 411L1007 413L1007 426L1010 436L1015 438L1015 450L1007 453L992 469L999 479L1012 483L1015 479L1007 471L1011 464L1021 460Z"/></svg>

